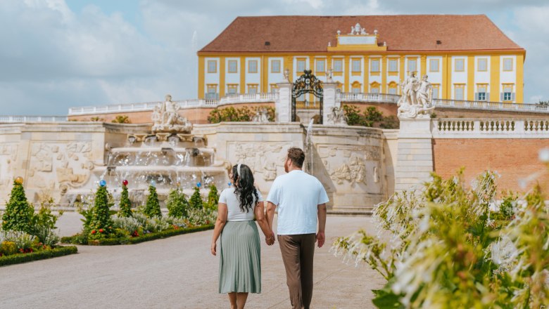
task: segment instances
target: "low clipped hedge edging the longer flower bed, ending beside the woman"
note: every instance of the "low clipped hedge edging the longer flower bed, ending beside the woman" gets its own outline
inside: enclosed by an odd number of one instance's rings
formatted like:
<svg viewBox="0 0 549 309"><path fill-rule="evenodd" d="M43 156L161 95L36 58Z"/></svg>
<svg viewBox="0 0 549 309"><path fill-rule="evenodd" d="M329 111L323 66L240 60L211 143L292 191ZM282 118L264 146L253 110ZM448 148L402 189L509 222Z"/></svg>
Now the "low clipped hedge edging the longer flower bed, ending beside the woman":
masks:
<svg viewBox="0 0 549 309"><path fill-rule="evenodd" d="M176 225L177 226L177 225ZM117 237L117 238L100 238L100 239L86 239L85 244L92 246L112 246L117 244L138 244L139 242L148 242L149 240L172 237L176 235L183 235L191 232L201 232L203 230L213 229L213 224L201 225L192 228L170 228L168 230L162 230L160 232L150 232L137 237ZM83 244L82 237L80 235L72 237L63 237L61 242L65 244Z"/></svg>

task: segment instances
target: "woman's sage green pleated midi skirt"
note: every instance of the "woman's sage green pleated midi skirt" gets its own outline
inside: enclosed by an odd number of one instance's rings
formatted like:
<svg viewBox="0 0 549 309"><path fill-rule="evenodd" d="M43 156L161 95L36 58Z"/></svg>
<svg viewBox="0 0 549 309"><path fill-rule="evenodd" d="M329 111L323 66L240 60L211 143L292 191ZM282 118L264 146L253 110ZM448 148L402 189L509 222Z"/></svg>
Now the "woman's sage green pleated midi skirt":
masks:
<svg viewBox="0 0 549 309"><path fill-rule="evenodd" d="M221 232L220 293L261 293L261 249L255 221L227 221Z"/></svg>

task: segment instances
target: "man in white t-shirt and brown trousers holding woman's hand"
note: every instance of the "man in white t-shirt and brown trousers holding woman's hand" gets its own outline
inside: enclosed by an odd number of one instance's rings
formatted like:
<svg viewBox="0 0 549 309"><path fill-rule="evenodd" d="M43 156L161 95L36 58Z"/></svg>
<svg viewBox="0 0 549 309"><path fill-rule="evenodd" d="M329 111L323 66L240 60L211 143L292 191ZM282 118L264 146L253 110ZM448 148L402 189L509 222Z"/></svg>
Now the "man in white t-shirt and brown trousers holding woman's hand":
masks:
<svg viewBox="0 0 549 309"><path fill-rule="evenodd" d="M293 308L308 309L313 298L313 256L326 239L326 203L322 183L301 170L305 153L290 148L284 161L285 175L277 177L267 196L267 222L272 230L278 206L278 242L286 268L286 284ZM317 232L318 217L318 232Z"/></svg>

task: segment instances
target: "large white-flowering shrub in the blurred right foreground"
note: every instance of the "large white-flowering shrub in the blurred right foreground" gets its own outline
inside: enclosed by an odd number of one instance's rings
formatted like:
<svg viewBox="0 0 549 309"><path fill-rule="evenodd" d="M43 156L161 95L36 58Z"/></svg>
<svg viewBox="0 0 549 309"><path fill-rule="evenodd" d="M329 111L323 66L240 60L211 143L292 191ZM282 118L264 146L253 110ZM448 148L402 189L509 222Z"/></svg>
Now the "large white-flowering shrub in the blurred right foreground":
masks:
<svg viewBox="0 0 549 309"><path fill-rule="evenodd" d="M332 250L387 280L374 291L378 308L541 308L549 303L545 197L531 190L514 218L505 205L491 211L496 178L483 173L467 188L462 172L433 174L422 192L397 193L374 209L384 237L360 230ZM517 196L506 200L519 205Z"/></svg>

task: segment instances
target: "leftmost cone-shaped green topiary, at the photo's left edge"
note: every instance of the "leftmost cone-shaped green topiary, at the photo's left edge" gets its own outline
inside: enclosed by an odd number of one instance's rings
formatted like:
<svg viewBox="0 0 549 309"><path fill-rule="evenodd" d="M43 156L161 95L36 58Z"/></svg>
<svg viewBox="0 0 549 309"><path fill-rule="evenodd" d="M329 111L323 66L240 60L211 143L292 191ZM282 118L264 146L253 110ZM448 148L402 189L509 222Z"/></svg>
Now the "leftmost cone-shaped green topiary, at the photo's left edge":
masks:
<svg viewBox="0 0 549 309"><path fill-rule="evenodd" d="M13 181L10 200L6 204L6 211L2 215L2 229L30 232L34 208L27 202L23 184Z"/></svg>

